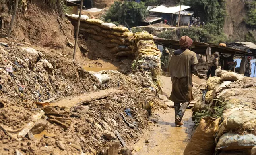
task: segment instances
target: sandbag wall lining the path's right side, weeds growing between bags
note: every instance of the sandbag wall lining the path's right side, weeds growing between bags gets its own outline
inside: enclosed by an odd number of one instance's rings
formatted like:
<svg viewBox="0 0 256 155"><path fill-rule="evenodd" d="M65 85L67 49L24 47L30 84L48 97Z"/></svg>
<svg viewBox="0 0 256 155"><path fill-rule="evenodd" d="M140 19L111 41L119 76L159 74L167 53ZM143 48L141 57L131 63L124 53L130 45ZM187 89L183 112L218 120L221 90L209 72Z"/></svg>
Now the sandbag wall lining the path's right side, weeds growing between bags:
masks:
<svg viewBox="0 0 256 155"><path fill-rule="evenodd" d="M202 115L221 118L215 136L217 154L238 150L248 152L256 146L256 107L253 99L244 95L248 91L256 91L255 83L248 83L253 79L235 72L219 69L217 74L221 76L208 79L203 102L196 103L193 117L197 120Z"/></svg>

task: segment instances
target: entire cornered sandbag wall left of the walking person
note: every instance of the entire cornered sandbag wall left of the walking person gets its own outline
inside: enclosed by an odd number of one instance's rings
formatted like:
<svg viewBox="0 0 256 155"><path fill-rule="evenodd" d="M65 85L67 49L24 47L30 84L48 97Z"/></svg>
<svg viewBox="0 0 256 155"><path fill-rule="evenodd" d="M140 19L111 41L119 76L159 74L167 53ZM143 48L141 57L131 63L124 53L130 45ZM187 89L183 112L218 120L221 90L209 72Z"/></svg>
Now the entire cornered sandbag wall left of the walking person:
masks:
<svg viewBox="0 0 256 155"><path fill-rule="evenodd" d="M66 17L76 26L78 15L66 14ZM158 77L161 72L161 52L155 46L151 34L147 32L133 34L126 27L104 23L99 19L89 19L86 15L81 15L80 31L89 34L89 37L109 48L109 53L118 57L135 57L132 64L133 73L130 76L132 78L136 76L136 79L138 76L146 78L148 84L145 89L151 89L152 93L161 91Z"/></svg>

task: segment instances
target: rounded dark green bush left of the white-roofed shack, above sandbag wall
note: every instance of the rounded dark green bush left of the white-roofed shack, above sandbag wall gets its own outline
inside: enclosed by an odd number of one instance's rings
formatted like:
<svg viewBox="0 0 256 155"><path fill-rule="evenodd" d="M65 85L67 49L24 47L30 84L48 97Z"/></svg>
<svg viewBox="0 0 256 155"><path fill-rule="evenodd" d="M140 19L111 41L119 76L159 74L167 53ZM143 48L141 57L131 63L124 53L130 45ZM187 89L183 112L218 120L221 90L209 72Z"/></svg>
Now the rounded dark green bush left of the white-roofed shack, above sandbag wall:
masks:
<svg viewBox="0 0 256 155"><path fill-rule="evenodd" d="M122 25L139 26L147 15L144 2L114 2L105 15L105 21L118 22ZM143 17L144 16L144 17Z"/></svg>

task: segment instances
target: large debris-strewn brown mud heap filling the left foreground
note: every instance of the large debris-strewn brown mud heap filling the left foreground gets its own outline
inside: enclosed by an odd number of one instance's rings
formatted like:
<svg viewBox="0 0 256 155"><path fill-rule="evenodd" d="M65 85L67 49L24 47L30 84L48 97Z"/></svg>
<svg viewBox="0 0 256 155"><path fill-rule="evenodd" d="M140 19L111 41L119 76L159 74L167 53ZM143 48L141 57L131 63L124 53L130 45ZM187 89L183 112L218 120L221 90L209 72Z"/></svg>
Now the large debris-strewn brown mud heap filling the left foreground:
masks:
<svg viewBox="0 0 256 155"><path fill-rule="evenodd" d="M1 41L1 154L116 154L147 127L145 103L162 104L118 71L103 82L58 51Z"/></svg>

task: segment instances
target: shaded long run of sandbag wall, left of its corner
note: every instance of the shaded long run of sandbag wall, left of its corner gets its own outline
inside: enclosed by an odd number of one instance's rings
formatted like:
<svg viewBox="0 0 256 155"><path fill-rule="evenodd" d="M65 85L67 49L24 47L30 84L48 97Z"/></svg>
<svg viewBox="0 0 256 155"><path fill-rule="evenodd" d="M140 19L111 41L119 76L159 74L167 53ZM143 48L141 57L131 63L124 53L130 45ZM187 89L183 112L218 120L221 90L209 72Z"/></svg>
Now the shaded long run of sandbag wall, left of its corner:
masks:
<svg viewBox="0 0 256 155"><path fill-rule="evenodd" d="M74 26L77 25L78 15L68 15ZM82 18L83 17L83 18ZM134 34L126 27L116 26L113 23L104 23L99 19L89 19L82 15L80 20L80 32L85 32L90 38L102 43L109 49L109 53L116 56L132 56L134 51Z"/></svg>

